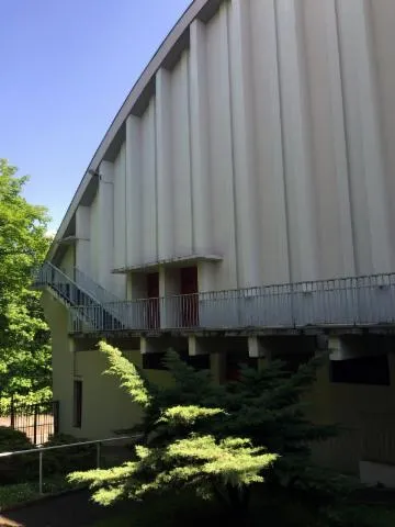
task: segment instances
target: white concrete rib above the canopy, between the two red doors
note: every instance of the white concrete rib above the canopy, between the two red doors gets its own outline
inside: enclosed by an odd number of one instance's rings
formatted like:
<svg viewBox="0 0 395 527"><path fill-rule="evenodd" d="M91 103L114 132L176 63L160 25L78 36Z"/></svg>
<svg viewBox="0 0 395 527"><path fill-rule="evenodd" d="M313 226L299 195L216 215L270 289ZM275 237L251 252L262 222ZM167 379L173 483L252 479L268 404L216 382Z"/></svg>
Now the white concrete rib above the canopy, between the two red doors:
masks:
<svg viewBox="0 0 395 527"><path fill-rule="evenodd" d="M156 75L157 210L159 260L173 256L171 175L171 80L161 68Z"/></svg>

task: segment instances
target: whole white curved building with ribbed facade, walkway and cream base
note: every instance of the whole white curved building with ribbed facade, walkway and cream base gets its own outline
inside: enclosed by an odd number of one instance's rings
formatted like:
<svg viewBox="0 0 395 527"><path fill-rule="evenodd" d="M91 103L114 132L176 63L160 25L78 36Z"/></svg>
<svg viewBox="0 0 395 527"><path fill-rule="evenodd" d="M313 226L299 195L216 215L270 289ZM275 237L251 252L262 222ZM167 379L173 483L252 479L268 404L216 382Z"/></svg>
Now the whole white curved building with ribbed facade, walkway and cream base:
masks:
<svg viewBox="0 0 395 527"><path fill-rule="evenodd" d="M393 0L192 2L99 145L38 280L63 429L74 379L82 435L129 424L114 386L104 424L94 411L103 365L76 351L100 335L147 365L169 345L208 354L219 377L236 351L329 343L340 360L319 415L360 437L363 416L395 410L394 22ZM352 445L332 463L371 456Z"/></svg>

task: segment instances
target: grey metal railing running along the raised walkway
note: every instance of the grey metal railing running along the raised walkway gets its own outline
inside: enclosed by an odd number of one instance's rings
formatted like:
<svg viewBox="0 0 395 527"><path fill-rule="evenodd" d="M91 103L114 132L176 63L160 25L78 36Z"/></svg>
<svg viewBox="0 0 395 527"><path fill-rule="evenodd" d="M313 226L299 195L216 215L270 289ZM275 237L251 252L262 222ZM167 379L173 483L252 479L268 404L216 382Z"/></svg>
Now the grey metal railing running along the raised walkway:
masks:
<svg viewBox="0 0 395 527"><path fill-rule="evenodd" d="M70 332L395 324L395 273L70 309Z"/></svg>

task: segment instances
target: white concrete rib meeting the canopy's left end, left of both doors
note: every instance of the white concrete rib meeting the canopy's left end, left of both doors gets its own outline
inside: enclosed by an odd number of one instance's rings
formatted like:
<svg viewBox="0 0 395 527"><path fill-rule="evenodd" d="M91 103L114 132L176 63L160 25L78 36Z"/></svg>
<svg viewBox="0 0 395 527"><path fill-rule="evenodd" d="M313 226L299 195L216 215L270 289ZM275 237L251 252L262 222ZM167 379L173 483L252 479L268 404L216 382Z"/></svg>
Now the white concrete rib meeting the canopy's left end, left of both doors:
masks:
<svg viewBox="0 0 395 527"><path fill-rule="evenodd" d="M140 119L126 119L126 265L142 261L142 141Z"/></svg>

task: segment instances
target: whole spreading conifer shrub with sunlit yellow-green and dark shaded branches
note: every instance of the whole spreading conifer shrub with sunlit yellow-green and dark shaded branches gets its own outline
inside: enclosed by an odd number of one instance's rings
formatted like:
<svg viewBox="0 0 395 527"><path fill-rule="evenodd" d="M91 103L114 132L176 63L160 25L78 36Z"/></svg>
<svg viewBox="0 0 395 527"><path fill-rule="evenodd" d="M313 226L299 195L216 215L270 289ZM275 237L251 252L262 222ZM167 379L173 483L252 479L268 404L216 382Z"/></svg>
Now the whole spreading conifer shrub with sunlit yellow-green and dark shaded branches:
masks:
<svg viewBox="0 0 395 527"><path fill-rule="evenodd" d="M100 348L110 362L108 373L121 379L145 413L136 427L144 446L136 448L135 460L70 475L89 483L97 502L108 505L192 485L199 494L242 511L253 483L320 494L337 490L338 482L311 462L312 442L337 430L313 424L303 404L320 359L294 374L280 362L261 371L241 368L240 381L218 385L210 372L195 371L169 351L165 362L173 383L158 386L120 350L105 343Z"/></svg>

